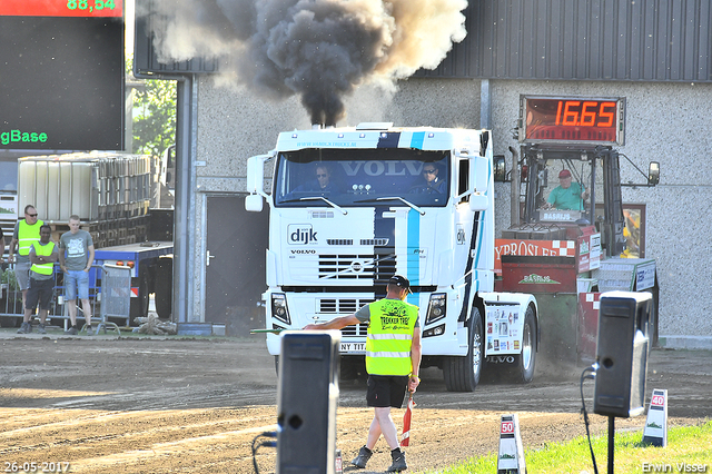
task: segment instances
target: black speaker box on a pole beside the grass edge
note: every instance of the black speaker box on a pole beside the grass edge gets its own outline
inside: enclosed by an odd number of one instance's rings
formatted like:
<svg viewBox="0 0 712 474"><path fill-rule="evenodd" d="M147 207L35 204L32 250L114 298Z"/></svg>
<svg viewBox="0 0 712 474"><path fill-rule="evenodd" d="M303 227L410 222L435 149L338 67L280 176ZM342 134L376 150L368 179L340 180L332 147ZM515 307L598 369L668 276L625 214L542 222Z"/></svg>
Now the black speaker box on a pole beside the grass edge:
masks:
<svg viewBox="0 0 712 474"><path fill-rule="evenodd" d="M649 293L601 295L594 413L629 418L645 411L651 309Z"/></svg>

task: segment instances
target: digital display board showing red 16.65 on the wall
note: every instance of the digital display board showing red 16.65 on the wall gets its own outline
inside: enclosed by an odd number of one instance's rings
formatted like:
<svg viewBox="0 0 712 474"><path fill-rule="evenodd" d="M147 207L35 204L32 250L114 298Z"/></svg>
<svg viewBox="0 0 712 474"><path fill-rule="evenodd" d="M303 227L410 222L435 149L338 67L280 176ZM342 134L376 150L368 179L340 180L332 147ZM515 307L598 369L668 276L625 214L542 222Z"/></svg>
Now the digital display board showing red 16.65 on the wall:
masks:
<svg viewBox="0 0 712 474"><path fill-rule="evenodd" d="M520 141L624 145L625 98L520 97Z"/></svg>

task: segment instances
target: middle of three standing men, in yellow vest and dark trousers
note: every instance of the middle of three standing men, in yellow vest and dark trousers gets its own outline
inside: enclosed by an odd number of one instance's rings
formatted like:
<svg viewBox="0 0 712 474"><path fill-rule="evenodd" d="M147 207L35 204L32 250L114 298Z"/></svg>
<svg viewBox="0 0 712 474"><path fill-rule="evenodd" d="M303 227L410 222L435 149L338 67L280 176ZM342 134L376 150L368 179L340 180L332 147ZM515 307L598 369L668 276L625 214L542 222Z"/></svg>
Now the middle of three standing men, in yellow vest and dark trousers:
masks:
<svg viewBox="0 0 712 474"><path fill-rule="evenodd" d="M24 304L24 317L22 325L18 329L18 334L28 334L32 332L31 318L37 305L40 306L40 325L37 329L40 334L47 334L44 324L49 305L52 303L52 293L55 292L55 261L59 259L57 245L50 239L52 228L43 225L40 227L40 240L33 241L30 246L30 285L27 292L27 302Z"/></svg>

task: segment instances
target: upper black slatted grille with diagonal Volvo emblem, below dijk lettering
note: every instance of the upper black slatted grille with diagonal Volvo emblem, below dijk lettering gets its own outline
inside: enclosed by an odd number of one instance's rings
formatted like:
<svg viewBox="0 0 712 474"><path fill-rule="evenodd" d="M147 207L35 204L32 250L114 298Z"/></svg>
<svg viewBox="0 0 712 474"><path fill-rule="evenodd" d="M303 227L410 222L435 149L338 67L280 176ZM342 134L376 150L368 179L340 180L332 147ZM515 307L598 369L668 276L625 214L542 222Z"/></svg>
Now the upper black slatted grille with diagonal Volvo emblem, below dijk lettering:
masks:
<svg viewBox="0 0 712 474"><path fill-rule="evenodd" d="M320 279L368 279L385 284L396 273L395 254L384 255L320 255Z"/></svg>

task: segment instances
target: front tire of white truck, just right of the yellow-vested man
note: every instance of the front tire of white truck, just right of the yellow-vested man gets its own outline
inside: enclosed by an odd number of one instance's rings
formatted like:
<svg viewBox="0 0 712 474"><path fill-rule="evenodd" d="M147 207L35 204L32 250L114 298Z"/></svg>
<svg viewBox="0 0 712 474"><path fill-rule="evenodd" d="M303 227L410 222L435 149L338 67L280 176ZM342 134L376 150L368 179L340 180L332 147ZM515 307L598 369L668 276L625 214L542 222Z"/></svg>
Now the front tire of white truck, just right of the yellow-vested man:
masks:
<svg viewBox="0 0 712 474"><path fill-rule="evenodd" d="M473 308L468 325L467 356L448 356L443 363L445 387L448 392L474 392L479 384L484 364L482 317L479 309Z"/></svg>

